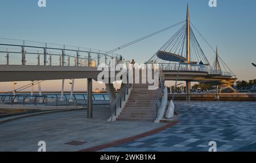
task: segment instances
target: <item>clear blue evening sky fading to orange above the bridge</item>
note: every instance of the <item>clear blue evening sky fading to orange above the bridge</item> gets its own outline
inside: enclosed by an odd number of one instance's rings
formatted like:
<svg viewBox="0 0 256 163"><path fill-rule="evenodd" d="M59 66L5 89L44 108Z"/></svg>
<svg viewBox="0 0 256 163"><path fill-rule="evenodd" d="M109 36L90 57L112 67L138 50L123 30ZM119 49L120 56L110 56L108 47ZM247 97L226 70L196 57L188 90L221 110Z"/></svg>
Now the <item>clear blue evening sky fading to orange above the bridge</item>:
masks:
<svg viewBox="0 0 256 163"><path fill-rule="evenodd" d="M191 22L237 74L238 80L256 78L256 22L253 0L217 0L210 8L209 0L46 0L39 8L38 0L0 1L0 37L77 45L110 50L185 19L189 2ZM137 62L148 60L179 27L150 37L117 53ZM208 59L214 53L197 39ZM1 60L5 58L1 57ZM84 90L79 80L76 90ZM0 83L0 90L9 83ZM59 86L60 87L60 86ZM68 87L68 86L67 86ZM44 84L44 90L52 86Z"/></svg>

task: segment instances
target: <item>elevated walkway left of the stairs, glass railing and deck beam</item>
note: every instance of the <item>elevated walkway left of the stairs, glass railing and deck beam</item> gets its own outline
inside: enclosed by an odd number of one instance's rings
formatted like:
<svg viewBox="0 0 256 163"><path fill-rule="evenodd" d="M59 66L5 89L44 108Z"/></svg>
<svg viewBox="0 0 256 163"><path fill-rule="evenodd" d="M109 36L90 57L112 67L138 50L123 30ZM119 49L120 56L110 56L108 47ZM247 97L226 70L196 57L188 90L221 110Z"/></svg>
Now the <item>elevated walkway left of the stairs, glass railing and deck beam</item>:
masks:
<svg viewBox="0 0 256 163"><path fill-rule="evenodd" d="M93 78L97 66L123 58L97 49L0 39L0 82Z"/></svg>

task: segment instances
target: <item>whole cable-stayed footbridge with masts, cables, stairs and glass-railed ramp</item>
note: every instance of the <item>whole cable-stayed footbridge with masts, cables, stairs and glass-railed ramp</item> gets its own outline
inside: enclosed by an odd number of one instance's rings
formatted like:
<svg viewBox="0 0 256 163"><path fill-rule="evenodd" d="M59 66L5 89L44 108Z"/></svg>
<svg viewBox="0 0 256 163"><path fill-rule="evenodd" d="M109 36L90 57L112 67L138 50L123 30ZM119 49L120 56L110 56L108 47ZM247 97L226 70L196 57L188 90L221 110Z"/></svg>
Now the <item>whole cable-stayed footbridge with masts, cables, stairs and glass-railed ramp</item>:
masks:
<svg viewBox="0 0 256 163"><path fill-rule="evenodd" d="M179 25L182 26L174 36L146 61L146 64L159 65L162 76L159 79L158 90L147 90L148 84L127 83L122 84L116 96L113 84L106 83L113 114L109 120L155 120L159 116L159 110L163 107L165 98L163 94L166 93L164 81L185 81L187 101L190 101L191 82L214 85L216 94L218 94L219 86L232 89L230 86L237 80L236 75L221 59L218 50L214 50L209 45L189 20L188 6L187 18L184 21L108 52L69 45L0 39L0 54L5 57L0 63L0 82L13 82L13 90L10 94L15 95L14 82L17 81L32 81L30 85L22 87L22 90L34 85L40 88L40 83L45 80L63 80L61 91L61 97L63 97L65 79L72 79L72 95L74 79L87 78L86 104L88 118L92 118L92 80L97 80L100 73L97 66L102 63L110 64L112 61L115 64L123 63L124 58L114 52ZM194 30L203 37L214 52L215 57L212 63L200 47ZM11 98L12 103L14 99Z"/></svg>

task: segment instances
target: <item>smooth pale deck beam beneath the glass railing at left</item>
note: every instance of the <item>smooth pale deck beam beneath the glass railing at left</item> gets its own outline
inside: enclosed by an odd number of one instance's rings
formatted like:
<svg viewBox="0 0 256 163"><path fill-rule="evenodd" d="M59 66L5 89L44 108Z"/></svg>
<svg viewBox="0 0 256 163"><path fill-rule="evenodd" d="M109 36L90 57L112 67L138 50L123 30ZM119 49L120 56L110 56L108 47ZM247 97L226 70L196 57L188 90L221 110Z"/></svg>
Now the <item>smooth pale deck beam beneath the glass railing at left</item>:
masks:
<svg viewBox="0 0 256 163"><path fill-rule="evenodd" d="M96 67L0 65L0 82L97 78Z"/></svg>

